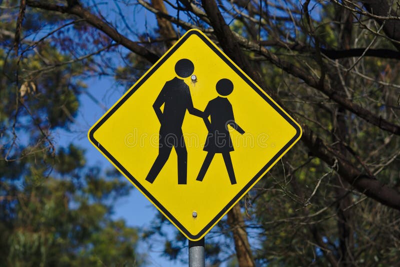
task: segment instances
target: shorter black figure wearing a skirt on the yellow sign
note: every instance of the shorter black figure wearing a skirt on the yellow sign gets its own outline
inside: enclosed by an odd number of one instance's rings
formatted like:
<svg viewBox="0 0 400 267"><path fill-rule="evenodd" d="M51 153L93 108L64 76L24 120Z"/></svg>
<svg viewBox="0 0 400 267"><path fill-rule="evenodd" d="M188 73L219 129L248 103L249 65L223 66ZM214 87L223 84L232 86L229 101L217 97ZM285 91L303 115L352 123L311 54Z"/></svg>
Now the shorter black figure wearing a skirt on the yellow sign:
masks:
<svg viewBox="0 0 400 267"><path fill-rule="evenodd" d="M222 96L227 96L233 91L233 83L229 79L220 79L216 83L216 91ZM208 120L211 117L211 122ZM216 97L208 102L204 110L204 123L208 129L207 139L204 144L204 151L207 151L197 181L202 181L215 153L221 153L229 175L230 184L236 184L230 151L233 151L232 140L230 139L228 125L244 134L243 129L234 121L232 105L226 97Z"/></svg>

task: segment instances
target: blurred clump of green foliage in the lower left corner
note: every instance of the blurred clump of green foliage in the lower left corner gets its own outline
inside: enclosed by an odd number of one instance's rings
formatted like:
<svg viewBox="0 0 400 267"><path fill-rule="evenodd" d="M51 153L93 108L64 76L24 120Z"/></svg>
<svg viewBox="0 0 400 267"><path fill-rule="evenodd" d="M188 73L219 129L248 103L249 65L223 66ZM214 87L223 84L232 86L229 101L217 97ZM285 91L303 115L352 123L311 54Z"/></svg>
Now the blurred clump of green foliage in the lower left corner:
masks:
<svg viewBox="0 0 400 267"><path fill-rule="evenodd" d="M32 267L142 265L137 230L110 217L112 200L126 195L130 185L80 166L81 151L72 145L52 159L55 168L64 166L61 177L43 177L46 169L35 164L21 177L22 188L6 191L10 199L1 201L7 214L0 221L0 262Z"/></svg>

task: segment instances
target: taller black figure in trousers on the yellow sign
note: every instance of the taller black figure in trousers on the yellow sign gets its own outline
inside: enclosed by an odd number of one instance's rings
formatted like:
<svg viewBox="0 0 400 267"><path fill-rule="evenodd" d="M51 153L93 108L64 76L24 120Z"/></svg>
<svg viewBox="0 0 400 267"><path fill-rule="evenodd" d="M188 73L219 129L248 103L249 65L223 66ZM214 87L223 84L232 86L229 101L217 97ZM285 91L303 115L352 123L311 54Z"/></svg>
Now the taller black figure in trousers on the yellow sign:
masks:
<svg viewBox="0 0 400 267"><path fill-rule="evenodd" d="M175 64L175 72L179 77L189 77L193 71L194 65L188 59L180 59ZM162 104L164 104L163 112L160 109ZM154 182L174 147L178 159L178 184L184 185L187 180L187 151L182 134L183 118L186 109L197 117L202 117L203 112L193 107L189 86L178 77L165 83L155 99L153 108L161 124L159 150L146 181Z"/></svg>

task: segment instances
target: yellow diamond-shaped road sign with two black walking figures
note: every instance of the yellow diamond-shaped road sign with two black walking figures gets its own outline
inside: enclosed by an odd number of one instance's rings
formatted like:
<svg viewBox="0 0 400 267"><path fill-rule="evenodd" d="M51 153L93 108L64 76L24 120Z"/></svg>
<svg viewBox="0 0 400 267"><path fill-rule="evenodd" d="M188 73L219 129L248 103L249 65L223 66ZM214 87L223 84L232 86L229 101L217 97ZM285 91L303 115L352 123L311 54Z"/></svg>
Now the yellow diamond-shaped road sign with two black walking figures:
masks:
<svg viewBox="0 0 400 267"><path fill-rule="evenodd" d="M88 133L93 146L193 241L300 136L299 125L194 29Z"/></svg>

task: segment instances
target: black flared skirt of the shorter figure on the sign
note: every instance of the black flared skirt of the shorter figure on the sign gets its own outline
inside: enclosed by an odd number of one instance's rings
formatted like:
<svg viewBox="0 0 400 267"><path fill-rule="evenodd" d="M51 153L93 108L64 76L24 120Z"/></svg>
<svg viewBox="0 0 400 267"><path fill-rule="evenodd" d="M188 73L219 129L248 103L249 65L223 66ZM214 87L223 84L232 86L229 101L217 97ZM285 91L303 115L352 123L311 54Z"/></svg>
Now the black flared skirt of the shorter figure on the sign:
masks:
<svg viewBox="0 0 400 267"><path fill-rule="evenodd" d="M233 151L232 140L228 131L208 132L204 144L204 151L213 153L223 153Z"/></svg>

